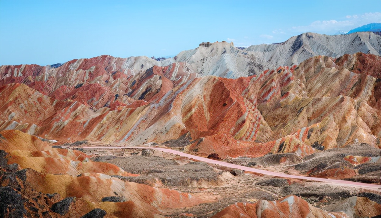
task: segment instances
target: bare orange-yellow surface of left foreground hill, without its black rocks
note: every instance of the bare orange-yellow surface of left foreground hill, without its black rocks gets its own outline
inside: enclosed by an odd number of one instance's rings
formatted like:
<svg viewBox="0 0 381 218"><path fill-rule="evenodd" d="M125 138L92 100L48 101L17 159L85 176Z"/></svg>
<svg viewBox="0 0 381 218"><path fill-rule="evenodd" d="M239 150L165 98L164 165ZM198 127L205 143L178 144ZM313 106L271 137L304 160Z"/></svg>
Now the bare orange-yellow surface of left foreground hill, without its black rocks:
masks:
<svg viewBox="0 0 381 218"><path fill-rule="evenodd" d="M72 215L62 217L81 217L94 208L105 210L107 217L161 217L163 211L171 208L213 201L111 177L139 175L113 164L90 161L86 154L77 150L52 148L47 142L18 130L0 132L0 150L8 153L7 164L18 164L19 170L26 169L18 171L14 178L9 173L0 174L1 186L11 186L18 181L23 184L19 187L24 193L34 190L40 194L57 193L60 197L56 200L75 197L77 200L70 207L77 209L72 208ZM121 202L103 202L104 197L110 196L121 197Z"/></svg>

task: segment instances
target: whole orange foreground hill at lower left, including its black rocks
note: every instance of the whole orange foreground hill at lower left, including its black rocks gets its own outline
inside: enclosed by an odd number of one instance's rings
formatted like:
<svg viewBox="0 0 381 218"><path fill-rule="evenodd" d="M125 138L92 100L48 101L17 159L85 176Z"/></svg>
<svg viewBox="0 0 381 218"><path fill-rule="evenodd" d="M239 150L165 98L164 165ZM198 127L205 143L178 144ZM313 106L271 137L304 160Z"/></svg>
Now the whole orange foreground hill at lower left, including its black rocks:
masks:
<svg viewBox="0 0 381 218"><path fill-rule="evenodd" d="M162 217L171 208L213 202L123 181L118 177L139 175L18 130L0 132L0 154L1 217Z"/></svg>

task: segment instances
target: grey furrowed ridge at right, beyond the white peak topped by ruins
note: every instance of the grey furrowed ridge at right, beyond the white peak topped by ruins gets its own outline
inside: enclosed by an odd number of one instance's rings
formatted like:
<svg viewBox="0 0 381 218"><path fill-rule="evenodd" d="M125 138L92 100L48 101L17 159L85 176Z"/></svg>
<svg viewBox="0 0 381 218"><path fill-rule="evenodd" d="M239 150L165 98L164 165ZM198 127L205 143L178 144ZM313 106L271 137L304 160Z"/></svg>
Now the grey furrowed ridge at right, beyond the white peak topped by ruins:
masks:
<svg viewBox="0 0 381 218"><path fill-rule="evenodd" d="M272 45L256 45L248 47L257 59L262 59L264 66L275 68L300 64L304 60L324 55L338 58L344 54L362 52L365 54L381 54L381 38L373 32L358 32L348 35L320 35L303 33L289 40Z"/></svg>

